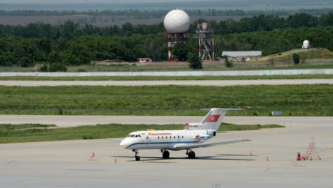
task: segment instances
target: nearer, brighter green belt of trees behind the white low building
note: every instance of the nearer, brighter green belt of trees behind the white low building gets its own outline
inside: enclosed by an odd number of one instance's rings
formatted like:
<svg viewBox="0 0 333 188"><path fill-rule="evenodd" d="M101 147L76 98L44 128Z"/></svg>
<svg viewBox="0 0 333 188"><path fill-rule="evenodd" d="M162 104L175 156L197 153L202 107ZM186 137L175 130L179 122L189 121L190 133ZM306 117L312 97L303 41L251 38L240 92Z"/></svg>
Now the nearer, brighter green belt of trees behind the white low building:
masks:
<svg viewBox="0 0 333 188"><path fill-rule="evenodd" d="M303 40L313 48L333 51L333 27L286 28L273 31L255 31L215 35L215 54L222 51L262 51L270 55L300 48ZM128 37L85 35L67 38L0 38L0 66L33 66L35 63L61 63L65 65L89 64L91 61L136 61L149 57L167 60L167 36L163 33ZM182 48L197 54L197 39L190 33Z"/></svg>

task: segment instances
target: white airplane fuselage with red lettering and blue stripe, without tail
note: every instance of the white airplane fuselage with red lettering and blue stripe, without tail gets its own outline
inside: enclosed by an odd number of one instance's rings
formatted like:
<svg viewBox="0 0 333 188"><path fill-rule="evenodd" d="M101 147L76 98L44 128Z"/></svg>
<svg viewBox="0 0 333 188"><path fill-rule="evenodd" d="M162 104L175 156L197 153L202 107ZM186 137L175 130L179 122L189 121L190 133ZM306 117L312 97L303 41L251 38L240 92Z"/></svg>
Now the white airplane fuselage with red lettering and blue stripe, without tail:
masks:
<svg viewBox="0 0 333 188"><path fill-rule="evenodd" d="M165 130L136 131L124 138L120 146L130 150L165 149L180 150L176 145L191 145L206 142L215 135L216 130Z"/></svg>

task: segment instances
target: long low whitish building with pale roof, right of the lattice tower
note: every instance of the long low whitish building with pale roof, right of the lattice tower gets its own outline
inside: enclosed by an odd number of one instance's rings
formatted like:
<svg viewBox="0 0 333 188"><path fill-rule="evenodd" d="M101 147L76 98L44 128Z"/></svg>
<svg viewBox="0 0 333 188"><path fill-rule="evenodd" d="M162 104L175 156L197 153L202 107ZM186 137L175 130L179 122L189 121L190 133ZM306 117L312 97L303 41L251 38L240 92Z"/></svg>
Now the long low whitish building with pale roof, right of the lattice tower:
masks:
<svg viewBox="0 0 333 188"><path fill-rule="evenodd" d="M246 62L261 57L261 53L261 51L225 51L222 52L222 56L228 56L232 61Z"/></svg>

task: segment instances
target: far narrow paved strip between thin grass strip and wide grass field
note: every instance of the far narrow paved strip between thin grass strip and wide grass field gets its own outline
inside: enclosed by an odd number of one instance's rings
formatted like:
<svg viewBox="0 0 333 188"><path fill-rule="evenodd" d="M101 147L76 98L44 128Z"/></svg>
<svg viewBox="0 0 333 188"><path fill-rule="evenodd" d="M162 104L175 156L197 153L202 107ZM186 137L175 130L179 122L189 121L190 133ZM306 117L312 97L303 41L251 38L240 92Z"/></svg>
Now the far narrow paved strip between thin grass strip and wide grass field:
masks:
<svg viewBox="0 0 333 188"><path fill-rule="evenodd" d="M292 80L160 80L160 81L0 81L5 86L61 86L61 85L90 85L90 86L140 86L140 85L203 85L203 86L232 86L232 85L295 85L295 84L333 84L333 79L292 79Z"/></svg>

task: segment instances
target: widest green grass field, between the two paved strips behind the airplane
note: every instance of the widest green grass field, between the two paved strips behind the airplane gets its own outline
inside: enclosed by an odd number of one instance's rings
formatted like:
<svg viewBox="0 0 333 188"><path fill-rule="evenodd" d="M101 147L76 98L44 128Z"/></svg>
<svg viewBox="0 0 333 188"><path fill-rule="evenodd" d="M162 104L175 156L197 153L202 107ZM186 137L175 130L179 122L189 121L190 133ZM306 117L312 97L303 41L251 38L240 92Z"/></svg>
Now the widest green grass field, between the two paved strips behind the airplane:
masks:
<svg viewBox="0 0 333 188"><path fill-rule="evenodd" d="M227 115L332 116L333 87L0 86L0 114L205 115L200 108L247 108Z"/></svg>

